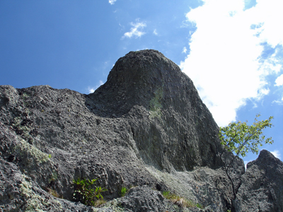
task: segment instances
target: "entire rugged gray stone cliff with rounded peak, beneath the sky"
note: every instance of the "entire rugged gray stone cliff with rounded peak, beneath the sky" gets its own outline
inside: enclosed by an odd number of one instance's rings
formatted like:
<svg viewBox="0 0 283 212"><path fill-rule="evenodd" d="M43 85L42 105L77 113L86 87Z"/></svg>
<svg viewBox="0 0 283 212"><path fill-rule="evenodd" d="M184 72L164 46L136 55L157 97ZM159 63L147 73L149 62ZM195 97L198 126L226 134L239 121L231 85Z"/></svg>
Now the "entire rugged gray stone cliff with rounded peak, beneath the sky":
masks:
<svg viewBox="0 0 283 212"><path fill-rule="evenodd" d="M155 50L118 59L90 95L0 86L0 129L0 211L283 208L282 162L267 151L246 172L236 160L231 175L238 194L231 201L212 114L190 78ZM74 202L77 178L98 178L108 202L100 208ZM120 197L122 187L132 189ZM202 208L176 206L163 191Z"/></svg>

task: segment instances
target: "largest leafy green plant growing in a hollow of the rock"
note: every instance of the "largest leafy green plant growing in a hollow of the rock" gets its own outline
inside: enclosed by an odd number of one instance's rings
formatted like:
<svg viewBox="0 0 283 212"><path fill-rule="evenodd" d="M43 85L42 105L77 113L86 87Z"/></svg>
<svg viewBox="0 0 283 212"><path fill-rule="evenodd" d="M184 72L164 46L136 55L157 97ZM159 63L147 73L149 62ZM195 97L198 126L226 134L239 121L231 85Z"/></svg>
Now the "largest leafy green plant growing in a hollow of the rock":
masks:
<svg viewBox="0 0 283 212"><path fill-rule="evenodd" d="M74 200L80 201L86 206L99 206L104 204L101 192L106 192L107 189L94 186L97 179L73 179L74 183Z"/></svg>

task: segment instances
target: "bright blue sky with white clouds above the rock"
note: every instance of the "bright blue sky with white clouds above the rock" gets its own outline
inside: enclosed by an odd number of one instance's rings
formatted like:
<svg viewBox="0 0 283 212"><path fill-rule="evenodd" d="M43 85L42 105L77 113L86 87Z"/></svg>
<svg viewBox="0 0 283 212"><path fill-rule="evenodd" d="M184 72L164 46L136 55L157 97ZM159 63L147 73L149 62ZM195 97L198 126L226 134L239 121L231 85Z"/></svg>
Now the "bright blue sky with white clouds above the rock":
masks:
<svg viewBox="0 0 283 212"><path fill-rule="evenodd" d="M282 160L282 8L282 0L2 0L0 84L90 93L129 51L157 49L192 79L219 126L274 116L265 135L275 143L262 148Z"/></svg>

